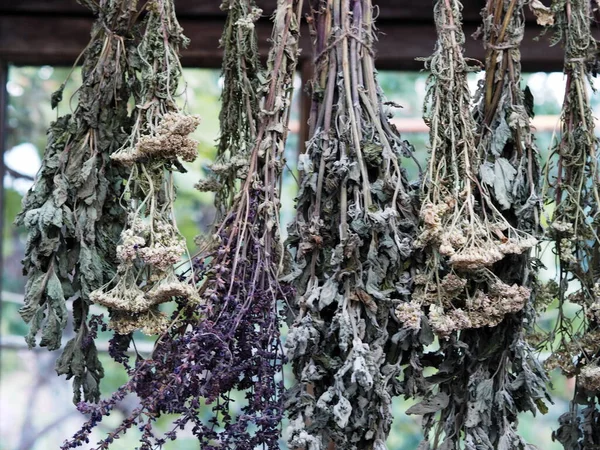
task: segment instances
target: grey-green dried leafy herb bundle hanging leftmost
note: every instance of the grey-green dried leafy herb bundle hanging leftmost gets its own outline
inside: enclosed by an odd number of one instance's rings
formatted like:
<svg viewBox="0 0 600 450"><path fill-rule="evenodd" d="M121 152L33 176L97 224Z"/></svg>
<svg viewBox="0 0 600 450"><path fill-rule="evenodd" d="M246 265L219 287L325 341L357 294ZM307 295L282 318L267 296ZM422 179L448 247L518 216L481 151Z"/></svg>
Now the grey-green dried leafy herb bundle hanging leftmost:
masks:
<svg viewBox="0 0 600 450"><path fill-rule="evenodd" d="M78 105L50 126L42 168L16 219L29 230L20 313L30 324L30 347L40 331L41 346L61 346L67 300L73 302L76 336L66 344L56 370L73 378L75 402L81 391L85 400L98 400L104 374L86 322L90 293L114 276L116 242L125 221L117 203L123 173L110 155L123 145L130 128L127 102L134 80L131 33L137 2L112 0L102 8L82 3L97 19L83 53ZM53 95L53 107L63 88Z"/></svg>

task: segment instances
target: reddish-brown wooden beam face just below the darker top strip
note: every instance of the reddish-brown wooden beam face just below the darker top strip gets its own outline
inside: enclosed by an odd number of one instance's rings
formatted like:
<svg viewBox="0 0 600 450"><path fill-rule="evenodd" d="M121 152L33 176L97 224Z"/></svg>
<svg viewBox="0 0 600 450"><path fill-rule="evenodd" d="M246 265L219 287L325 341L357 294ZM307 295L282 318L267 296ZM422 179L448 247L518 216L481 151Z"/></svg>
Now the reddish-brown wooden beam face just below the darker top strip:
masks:
<svg viewBox="0 0 600 450"><path fill-rule="evenodd" d="M203 2L198 2L203 3ZM18 65L71 65L89 40L91 17L43 17L0 15L0 59ZM191 45L183 51L182 62L186 66L218 68L222 49L219 38L223 21L213 19L181 19L185 34ZM268 19L257 25L259 48L266 55L272 25ZM436 40L436 31L427 24L399 24L381 20L377 43L377 67L386 70L420 70L423 63L415 58L429 56ZM465 25L467 35L466 55L483 59L480 41L471 37L477 26ZM540 27L529 26L525 32L521 53L525 71L562 71L563 51L560 46L550 47L548 36L540 34ZM596 30L598 31L598 30ZM303 26L300 46L302 59L310 58L311 42L306 26Z"/></svg>

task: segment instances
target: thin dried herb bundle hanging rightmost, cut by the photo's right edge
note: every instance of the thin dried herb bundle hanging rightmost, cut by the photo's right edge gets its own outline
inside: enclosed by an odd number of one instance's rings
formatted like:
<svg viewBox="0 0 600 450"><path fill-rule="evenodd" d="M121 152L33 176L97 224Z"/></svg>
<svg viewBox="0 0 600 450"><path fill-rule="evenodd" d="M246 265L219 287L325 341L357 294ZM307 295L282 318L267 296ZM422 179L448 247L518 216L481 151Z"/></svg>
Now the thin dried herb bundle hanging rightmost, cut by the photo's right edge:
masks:
<svg viewBox="0 0 600 450"><path fill-rule="evenodd" d="M548 231L555 243L560 280L558 289L549 286L557 291L559 317L547 342L558 341L559 346L546 365L577 376L575 398L554 437L565 449L591 449L600 445L600 179L588 93L596 73L597 43L590 30L589 2L555 1L552 11L555 44L562 41L565 47L567 84L562 129L548 165L555 164L556 176L552 180L547 176L548 197L554 203ZM581 306L575 321L565 316L567 302Z"/></svg>

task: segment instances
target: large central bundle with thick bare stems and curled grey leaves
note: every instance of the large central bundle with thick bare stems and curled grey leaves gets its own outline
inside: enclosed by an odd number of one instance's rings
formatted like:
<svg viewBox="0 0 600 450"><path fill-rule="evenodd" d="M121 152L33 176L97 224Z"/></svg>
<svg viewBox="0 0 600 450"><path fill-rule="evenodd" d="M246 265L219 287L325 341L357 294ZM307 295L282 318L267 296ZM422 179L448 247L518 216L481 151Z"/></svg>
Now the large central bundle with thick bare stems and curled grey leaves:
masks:
<svg viewBox="0 0 600 450"><path fill-rule="evenodd" d="M410 147L375 78L371 1L315 2L311 23L312 134L289 241L299 296L286 341L297 378L289 443L381 450L401 357L420 345L394 316L411 288L417 218L400 167Z"/></svg>

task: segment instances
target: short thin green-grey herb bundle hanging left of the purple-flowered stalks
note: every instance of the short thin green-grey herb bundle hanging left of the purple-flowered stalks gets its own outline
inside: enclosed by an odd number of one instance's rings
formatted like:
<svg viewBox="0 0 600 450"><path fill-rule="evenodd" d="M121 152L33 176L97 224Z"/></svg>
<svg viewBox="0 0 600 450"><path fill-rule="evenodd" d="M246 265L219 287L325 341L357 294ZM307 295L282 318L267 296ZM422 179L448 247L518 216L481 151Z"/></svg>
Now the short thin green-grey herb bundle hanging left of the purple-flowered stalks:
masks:
<svg viewBox="0 0 600 450"><path fill-rule="evenodd" d="M253 0L226 0L227 22L223 46L223 93L219 122L221 135L212 174L198 183L201 191L215 192L216 223L233 205L240 180L246 178L248 155L256 141L260 111L260 62L254 23L262 11Z"/></svg>

